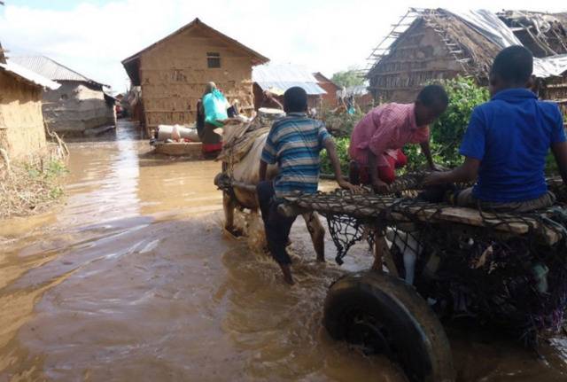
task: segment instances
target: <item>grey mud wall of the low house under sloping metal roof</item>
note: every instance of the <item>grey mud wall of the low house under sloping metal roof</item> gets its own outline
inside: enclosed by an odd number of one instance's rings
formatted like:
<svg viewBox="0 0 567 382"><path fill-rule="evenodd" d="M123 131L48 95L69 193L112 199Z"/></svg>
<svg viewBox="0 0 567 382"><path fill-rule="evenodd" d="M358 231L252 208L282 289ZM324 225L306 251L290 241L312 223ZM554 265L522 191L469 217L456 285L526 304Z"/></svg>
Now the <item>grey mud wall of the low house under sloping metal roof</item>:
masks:
<svg viewBox="0 0 567 382"><path fill-rule="evenodd" d="M115 124L114 107L105 101L100 87L85 82L59 83L58 90L43 93L43 116L50 129L69 136Z"/></svg>

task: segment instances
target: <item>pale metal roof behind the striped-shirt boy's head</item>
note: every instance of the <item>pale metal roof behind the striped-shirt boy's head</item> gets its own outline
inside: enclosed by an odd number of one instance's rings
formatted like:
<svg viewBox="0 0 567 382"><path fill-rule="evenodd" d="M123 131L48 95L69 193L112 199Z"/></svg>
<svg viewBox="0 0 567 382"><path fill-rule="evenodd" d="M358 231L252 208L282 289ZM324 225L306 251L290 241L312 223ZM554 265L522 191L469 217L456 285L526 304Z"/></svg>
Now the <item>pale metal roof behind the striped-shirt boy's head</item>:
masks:
<svg viewBox="0 0 567 382"><path fill-rule="evenodd" d="M291 64L267 64L252 68L252 81L258 83L262 90L288 90L299 86L308 95L327 94L319 85L311 72L304 66Z"/></svg>

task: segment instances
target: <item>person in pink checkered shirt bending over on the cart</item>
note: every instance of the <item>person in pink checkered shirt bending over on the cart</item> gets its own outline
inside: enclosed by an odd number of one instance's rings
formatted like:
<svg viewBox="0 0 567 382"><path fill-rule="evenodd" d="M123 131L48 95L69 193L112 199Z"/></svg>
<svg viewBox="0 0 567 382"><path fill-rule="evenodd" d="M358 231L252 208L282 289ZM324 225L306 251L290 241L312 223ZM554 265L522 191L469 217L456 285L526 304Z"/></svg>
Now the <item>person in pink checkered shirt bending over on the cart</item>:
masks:
<svg viewBox="0 0 567 382"><path fill-rule="evenodd" d="M445 112L446 91L428 85L413 104L385 104L372 109L353 129L349 155L353 184L371 184L377 192L387 192L396 168L408 163L401 151L406 144L421 144L431 169L435 169L429 147L429 125Z"/></svg>

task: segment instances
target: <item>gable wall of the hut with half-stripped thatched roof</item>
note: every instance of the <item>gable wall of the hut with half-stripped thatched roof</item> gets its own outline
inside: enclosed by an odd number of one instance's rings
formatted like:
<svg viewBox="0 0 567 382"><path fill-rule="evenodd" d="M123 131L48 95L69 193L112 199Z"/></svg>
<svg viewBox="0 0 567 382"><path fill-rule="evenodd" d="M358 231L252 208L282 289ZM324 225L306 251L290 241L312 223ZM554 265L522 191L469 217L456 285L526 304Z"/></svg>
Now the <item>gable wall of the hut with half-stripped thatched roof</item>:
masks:
<svg viewBox="0 0 567 382"><path fill-rule="evenodd" d="M412 102L424 84L454 78L464 70L447 45L425 22L412 27L393 44L369 74L377 102Z"/></svg>

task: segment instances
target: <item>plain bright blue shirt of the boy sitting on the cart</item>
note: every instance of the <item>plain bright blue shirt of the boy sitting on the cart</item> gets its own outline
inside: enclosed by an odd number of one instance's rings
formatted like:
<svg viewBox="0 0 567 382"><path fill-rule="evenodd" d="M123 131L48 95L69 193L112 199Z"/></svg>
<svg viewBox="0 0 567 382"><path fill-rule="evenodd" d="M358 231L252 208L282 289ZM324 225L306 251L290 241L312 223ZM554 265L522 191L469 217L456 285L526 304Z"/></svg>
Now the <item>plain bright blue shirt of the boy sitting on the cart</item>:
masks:
<svg viewBox="0 0 567 382"><path fill-rule="evenodd" d="M548 191L549 146L564 141L557 105L527 89L498 92L475 108L461 144L461 155L480 160L473 195L502 203L540 198Z"/></svg>

